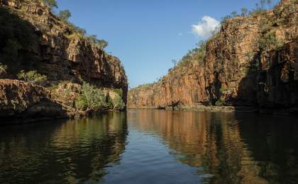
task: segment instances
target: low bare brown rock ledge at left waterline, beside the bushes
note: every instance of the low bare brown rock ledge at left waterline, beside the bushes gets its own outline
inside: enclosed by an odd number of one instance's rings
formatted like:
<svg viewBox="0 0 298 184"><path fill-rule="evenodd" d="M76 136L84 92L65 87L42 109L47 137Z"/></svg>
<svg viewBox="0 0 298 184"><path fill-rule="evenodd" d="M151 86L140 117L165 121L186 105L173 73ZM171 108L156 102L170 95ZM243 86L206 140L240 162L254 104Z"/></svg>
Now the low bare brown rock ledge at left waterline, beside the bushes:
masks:
<svg viewBox="0 0 298 184"><path fill-rule="evenodd" d="M42 86L23 81L0 79L0 117L9 123L32 122L50 118L68 117L62 106L50 100L50 93ZM4 118L4 119L3 119Z"/></svg>

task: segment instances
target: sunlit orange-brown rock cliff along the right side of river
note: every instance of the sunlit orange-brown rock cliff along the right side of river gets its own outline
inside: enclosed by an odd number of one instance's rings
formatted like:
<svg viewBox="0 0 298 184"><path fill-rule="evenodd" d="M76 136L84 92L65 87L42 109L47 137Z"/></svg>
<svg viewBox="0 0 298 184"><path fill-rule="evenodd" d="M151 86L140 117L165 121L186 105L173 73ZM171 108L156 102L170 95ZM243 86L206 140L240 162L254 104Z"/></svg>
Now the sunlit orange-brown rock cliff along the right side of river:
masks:
<svg viewBox="0 0 298 184"><path fill-rule="evenodd" d="M176 67L155 84L128 92L128 108L252 106L298 108L298 1L236 17L206 43L203 64Z"/></svg>

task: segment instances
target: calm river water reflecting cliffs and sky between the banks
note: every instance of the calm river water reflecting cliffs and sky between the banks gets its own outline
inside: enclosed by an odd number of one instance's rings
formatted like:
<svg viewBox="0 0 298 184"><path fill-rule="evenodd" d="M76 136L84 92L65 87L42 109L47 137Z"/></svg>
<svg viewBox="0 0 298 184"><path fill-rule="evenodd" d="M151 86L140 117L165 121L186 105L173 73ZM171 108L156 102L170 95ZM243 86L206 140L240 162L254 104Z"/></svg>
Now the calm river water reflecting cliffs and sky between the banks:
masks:
<svg viewBox="0 0 298 184"><path fill-rule="evenodd" d="M298 121L128 110L0 127L0 183L298 183Z"/></svg>

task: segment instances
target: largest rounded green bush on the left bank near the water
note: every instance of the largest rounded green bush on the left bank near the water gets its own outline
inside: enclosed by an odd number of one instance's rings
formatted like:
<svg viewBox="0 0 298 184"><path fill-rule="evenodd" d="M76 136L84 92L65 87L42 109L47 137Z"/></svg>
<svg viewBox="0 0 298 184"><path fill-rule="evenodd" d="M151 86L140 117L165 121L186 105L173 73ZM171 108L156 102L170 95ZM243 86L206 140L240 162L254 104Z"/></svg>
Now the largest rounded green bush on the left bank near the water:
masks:
<svg viewBox="0 0 298 184"><path fill-rule="evenodd" d="M81 110L99 111L109 108L111 103L109 103L109 98L107 98L104 91L84 83L82 93L79 98L77 98L75 105Z"/></svg>

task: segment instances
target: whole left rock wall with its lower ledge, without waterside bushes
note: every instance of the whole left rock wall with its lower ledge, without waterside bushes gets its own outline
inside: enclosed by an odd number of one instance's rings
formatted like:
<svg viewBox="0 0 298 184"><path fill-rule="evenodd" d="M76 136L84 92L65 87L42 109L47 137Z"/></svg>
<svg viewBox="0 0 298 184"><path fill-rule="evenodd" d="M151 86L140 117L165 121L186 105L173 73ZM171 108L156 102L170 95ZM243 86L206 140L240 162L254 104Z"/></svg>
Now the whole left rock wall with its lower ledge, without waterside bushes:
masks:
<svg viewBox="0 0 298 184"><path fill-rule="evenodd" d="M126 103L127 77L118 58L57 18L40 0L0 0L0 5L0 64L7 66L0 71L0 117L5 123L87 115L75 106L83 82L109 93L121 88ZM46 88L11 80L21 70L45 75L40 84Z"/></svg>

